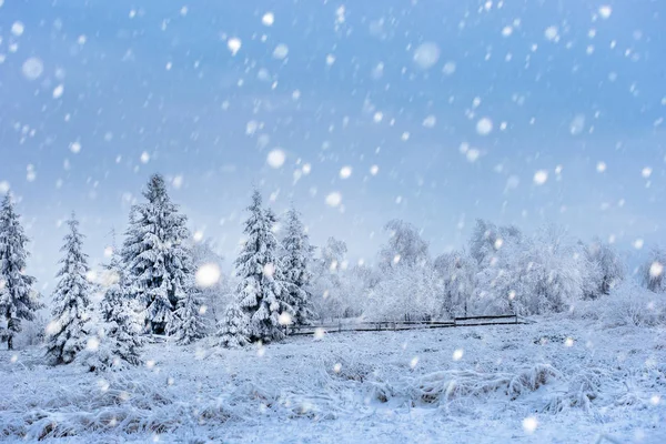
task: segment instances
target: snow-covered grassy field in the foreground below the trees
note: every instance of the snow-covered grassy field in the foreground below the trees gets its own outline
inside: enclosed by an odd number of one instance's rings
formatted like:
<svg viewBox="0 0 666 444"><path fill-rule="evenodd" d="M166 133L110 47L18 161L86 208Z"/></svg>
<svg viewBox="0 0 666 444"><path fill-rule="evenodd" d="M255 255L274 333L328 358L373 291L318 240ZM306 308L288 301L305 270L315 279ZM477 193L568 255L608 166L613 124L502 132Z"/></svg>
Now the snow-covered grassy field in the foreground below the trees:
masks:
<svg viewBox="0 0 666 444"><path fill-rule="evenodd" d="M537 321L152 344L147 365L104 374L2 351L0 440L666 442L664 329Z"/></svg>

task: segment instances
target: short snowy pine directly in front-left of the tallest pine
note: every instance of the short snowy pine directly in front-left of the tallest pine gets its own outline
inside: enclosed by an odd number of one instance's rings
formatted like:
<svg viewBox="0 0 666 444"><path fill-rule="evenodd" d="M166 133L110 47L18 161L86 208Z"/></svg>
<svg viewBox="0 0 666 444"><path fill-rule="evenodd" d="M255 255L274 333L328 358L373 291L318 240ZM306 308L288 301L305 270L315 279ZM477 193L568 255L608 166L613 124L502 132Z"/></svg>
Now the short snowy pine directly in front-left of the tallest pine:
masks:
<svg viewBox="0 0 666 444"><path fill-rule="evenodd" d="M97 347L81 353L90 370L120 369L123 362L141 364L141 324L134 300L128 297L120 255L112 244L111 260L103 265L100 284L103 297L99 306Z"/></svg>

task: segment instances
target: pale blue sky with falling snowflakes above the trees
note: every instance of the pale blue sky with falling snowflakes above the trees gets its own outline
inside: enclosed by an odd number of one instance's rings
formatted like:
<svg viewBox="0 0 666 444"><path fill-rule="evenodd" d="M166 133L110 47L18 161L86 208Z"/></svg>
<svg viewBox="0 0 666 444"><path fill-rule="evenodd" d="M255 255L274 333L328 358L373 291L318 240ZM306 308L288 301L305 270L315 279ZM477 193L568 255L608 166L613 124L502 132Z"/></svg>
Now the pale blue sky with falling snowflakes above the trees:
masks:
<svg viewBox="0 0 666 444"><path fill-rule="evenodd" d="M354 260L374 259L393 218L434 254L476 218L627 251L664 240L660 1L0 4L0 188L44 285L61 221L77 211L98 262L153 172L228 263L253 185Z"/></svg>

